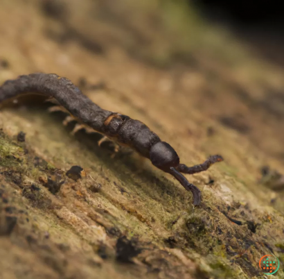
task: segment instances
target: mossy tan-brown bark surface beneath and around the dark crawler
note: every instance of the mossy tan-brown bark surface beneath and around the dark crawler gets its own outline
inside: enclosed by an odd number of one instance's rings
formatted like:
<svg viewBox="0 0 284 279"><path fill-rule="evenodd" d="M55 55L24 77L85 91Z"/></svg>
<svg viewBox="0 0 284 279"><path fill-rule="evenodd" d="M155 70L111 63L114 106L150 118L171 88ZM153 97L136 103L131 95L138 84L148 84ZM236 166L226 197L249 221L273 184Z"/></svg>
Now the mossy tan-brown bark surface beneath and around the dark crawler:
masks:
<svg viewBox="0 0 284 279"><path fill-rule="evenodd" d="M98 134L71 135L74 123L41 99L3 106L1 279L265 278L258 261L270 253L284 277L282 69L182 1L0 5L1 83L66 76L101 108L143 121L181 162L225 160L187 176L202 190L193 210L176 180L135 153L113 155Z"/></svg>

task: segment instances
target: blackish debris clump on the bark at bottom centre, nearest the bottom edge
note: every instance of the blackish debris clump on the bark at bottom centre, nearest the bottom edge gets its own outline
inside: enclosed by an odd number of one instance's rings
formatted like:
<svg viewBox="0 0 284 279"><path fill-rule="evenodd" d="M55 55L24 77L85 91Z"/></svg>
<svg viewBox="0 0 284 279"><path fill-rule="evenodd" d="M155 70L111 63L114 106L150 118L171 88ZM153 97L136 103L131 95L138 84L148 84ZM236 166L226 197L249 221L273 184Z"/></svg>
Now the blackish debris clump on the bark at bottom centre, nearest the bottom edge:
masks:
<svg viewBox="0 0 284 279"><path fill-rule="evenodd" d="M136 247L137 239L127 239L127 237L119 237L116 242L116 260L120 262L132 262L132 257L139 255L141 249Z"/></svg>

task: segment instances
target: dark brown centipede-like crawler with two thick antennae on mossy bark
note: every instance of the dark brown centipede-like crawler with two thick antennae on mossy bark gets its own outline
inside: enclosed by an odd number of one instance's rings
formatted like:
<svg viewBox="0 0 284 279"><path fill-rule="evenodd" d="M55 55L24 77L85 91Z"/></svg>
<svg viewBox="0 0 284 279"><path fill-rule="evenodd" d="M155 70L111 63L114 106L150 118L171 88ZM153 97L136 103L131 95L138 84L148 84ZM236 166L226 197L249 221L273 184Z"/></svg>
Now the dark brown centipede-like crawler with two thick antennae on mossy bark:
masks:
<svg viewBox="0 0 284 279"><path fill-rule="evenodd" d="M69 112L67 122L76 119L80 122L79 128L84 126L94 130L148 158L154 167L172 175L187 191L192 192L193 205L201 203L202 192L189 183L183 174L197 174L206 171L215 162L223 161L221 155L211 155L202 164L193 167L180 164L175 149L161 141L148 126L127 115L100 108L68 78L57 74L28 74L4 82L0 87L0 103L28 93L42 94L47 99L55 100L57 108Z"/></svg>

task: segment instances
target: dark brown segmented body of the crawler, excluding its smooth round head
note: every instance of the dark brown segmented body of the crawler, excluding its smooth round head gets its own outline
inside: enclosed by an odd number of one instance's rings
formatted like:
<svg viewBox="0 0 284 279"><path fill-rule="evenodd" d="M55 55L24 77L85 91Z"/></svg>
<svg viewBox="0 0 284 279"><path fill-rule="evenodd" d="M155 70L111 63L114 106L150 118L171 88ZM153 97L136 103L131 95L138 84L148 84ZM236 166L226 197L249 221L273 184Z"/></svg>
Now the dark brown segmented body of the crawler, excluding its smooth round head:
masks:
<svg viewBox="0 0 284 279"><path fill-rule="evenodd" d="M6 81L0 87L0 102L24 93L39 93L56 99L71 115L98 133L129 146L146 158L153 144L161 141L148 126L93 103L67 78L57 74L29 74Z"/></svg>

